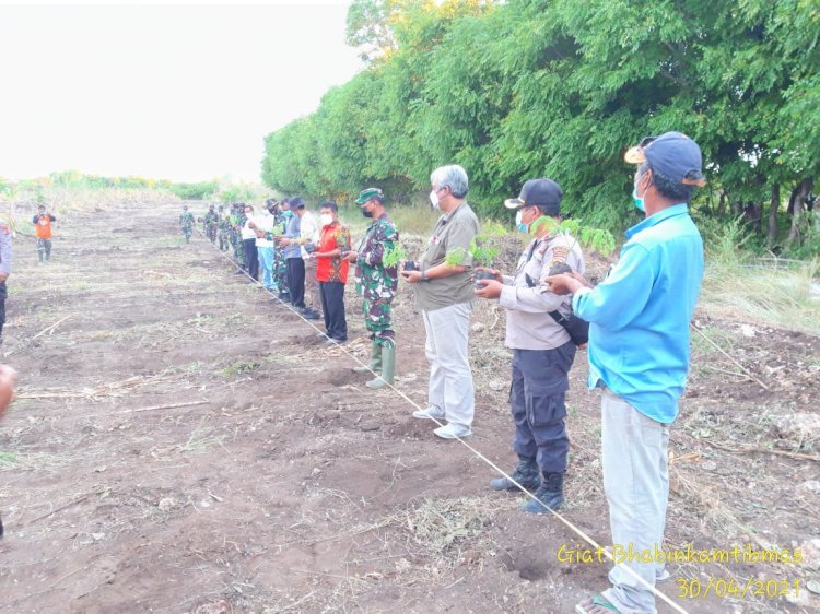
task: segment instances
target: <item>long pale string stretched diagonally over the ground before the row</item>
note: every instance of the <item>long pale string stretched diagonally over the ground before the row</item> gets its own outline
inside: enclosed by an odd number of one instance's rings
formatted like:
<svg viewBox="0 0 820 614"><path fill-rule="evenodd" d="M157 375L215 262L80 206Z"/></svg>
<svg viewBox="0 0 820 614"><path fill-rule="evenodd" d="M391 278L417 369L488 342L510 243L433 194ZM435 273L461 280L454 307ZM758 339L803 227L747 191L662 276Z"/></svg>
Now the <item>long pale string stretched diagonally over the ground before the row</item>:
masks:
<svg viewBox="0 0 820 614"><path fill-rule="evenodd" d="M204 237L204 235L199 229L197 229L197 233L200 236ZM208 237L204 237L204 238L208 238ZM222 252L222 250L220 250L219 247L216 247L215 244L211 243L210 239L208 239L208 243L210 243L211 247L214 250L216 250L219 252L219 255L222 256L225 260L227 260L229 262L231 262L233 265L238 267L238 264L236 262L234 262L227 255L225 255L224 252ZM260 285L266 292L268 292L268 294L270 294L271 296L273 296L273 298L276 298L277 300L279 300L282 305L284 305L285 307L288 307L291 311L293 311L294 314L296 314L296 316L298 316L306 324L308 324L312 328L314 328L317 332L320 332L323 334L323 336L326 336L328 340L332 341L333 344L336 344L337 346L339 346L342 352L344 352L348 356L350 356L351 358L353 358L356 363L359 363L360 365L362 365L363 367L365 367L370 373L372 373L374 376L376 376L376 378L380 378L380 374L377 374L376 371L374 371L373 369L371 369L370 364L363 363L361 359L359 359L359 357L355 354L351 353L347 347L344 347L343 345L341 345L340 343L338 343L335 339L328 336L327 333L325 333L324 331L321 331L311 320L306 319L302 314L300 314L296 309L294 309L290 304L288 304L284 300L282 300L281 298L279 298L279 296L277 294L274 294L272 291L270 291L269 288L262 286L260 284L260 282L258 282L253 276L250 276L250 274L247 271L245 271L244 269L242 269L242 267L238 267L238 268L239 268L239 270L248 279L253 280L257 285ZM398 394L399 397L401 397L405 401L407 401L412 406L414 406L417 410L422 410L422 408L415 401L413 401L412 399L410 399L407 394L405 394L401 390L399 390L398 388L396 388L393 383L389 383L389 382L385 381L385 385L387 387L389 387L390 390L393 390L394 392L396 392L396 394ZM433 422L435 422L438 426L445 426L443 423L438 422L438 420L435 418L435 417L433 417L433 416L430 416L430 420L432 420ZM509 475L507 475L507 473L503 469L501 469L493 461L491 461L490 459L488 459L484 454L482 454L476 448L473 448L472 446L470 446L470 444L468 444L465 439L462 439L461 437L458 437L458 436L455 436L455 439L458 440L468 450L470 450L473 454L476 454L479 459L481 459L487 464L489 464L492 469L494 469L495 471L497 471L501 475L503 475L504 477L506 477L507 480L509 480L509 482L512 484L514 484L515 487L518 488L522 493L524 493L525 495L527 495L532 500L538 501L538 504L541 507L543 507L552 516L554 516L555 518L558 518L566 527L569 527L570 529L572 529L586 543L588 543L590 546L595 547L597 550L597 552L602 552L607 556L607 558L609 558L609 560L612 562L613 565L616 565L617 567L621 567L621 569L625 570L629 575L631 575L634 579L636 579L641 585L643 585L648 590L651 590L656 597L658 597L663 601L665 601L670 607L672 607L672 610L675 610L676 612L680 612L681 614L689 614L689 612L687 610L684 610L683 607L681 607L680 605L678 605L677 602L672 601L665 593L660 592L654 586L652 586L649 582L647 582L646 580L644 580L631 567L629 567L628 565L624 565L622 563L616 563L614 556L612 555L612 553L609 550L605 550L604 546L601 546L593 538L590 538L589 535L587 535L582 529L577 528L570 520L565 519L558 511L555 511L554 509L552 509L551 507L549 507L547 504L544 504L542 500L540 500L538 497L536 497L532 493L530 493L529 491L527 491L527 488L525 488L518 482L516 482L515 480L513 480L513 477L511 477Z"/></svg>

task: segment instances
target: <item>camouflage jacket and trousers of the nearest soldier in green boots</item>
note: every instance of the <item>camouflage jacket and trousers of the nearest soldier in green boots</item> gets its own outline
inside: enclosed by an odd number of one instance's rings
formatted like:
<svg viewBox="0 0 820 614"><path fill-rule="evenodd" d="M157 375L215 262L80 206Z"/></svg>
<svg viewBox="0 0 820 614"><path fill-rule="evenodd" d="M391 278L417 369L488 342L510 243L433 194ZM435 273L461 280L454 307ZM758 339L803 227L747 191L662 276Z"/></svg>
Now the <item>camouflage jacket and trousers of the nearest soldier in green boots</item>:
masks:
<svg viewBox="0 0 820 614"><path fill-rule="evenodd" d="M364 326L371 339L378 345L393 347L396 333L390 324L390 304L399 285L398 267L385 267L382 258L394 249L399 240L387 213L374 221L365 231L359 244L356 259L356 292L362 296Z"/></svg>

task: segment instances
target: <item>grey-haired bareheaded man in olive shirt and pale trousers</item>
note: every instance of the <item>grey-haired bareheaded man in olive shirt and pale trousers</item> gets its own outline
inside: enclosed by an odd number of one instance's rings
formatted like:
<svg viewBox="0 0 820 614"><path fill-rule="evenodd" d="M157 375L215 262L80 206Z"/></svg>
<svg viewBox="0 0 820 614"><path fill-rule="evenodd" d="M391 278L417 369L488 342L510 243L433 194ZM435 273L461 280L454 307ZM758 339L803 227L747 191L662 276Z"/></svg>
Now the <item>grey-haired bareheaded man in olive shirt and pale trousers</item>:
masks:
<svg viewBox="0 0 820 614"><path fill-rule="evenodd" d="M430 176L433 208L441 209L433 234L422 252L418 271L401 276L415 285L415 300L422 310L426 331L425 352L430 362L426 410L413 412L424 420L446 420L433 433L443 439L467 437L472 433L476 397L467 352L472 282L470 244L479 232L479 221L465 200L467 173L453 164L436 168ZM448 253L466 253L461 264L445 262Z"/></svg>

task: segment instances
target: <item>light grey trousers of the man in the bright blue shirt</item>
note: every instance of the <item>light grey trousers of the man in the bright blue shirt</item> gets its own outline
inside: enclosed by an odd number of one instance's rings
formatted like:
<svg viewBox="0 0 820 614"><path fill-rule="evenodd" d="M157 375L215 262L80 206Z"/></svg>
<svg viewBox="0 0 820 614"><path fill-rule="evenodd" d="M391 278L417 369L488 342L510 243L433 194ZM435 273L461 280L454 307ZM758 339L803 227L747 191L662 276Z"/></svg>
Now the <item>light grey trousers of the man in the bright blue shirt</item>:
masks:
<svg viewBox="0 0 820 614"><path fill-rule="evenodd" d="M669 428L604 389L601 460L609 504L612 546L625 553L663 547L669 500ZM617 556L616 556L617 558ZM602 595L623 614L655 614L655 594L623 569L628 566L651 587L663 571L658 563L622 563L609 572L612 588Z"/></svg>

